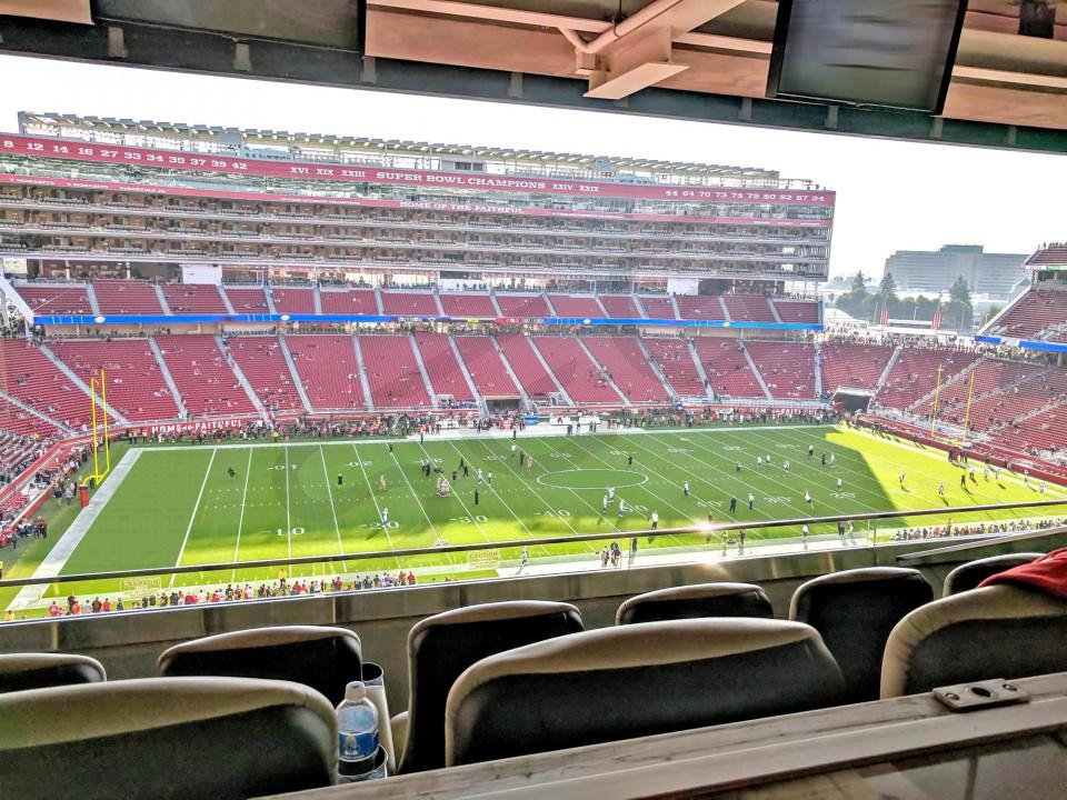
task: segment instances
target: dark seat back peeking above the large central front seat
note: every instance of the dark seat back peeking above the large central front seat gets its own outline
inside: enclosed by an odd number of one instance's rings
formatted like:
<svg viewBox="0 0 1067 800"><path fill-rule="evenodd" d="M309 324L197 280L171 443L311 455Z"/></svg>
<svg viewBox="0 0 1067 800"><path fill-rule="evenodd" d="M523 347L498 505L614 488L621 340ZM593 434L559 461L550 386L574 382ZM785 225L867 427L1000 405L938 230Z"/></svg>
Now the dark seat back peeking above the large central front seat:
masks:
<svg viewBox="0 0 1067 800"><path fill-rule="evenodd" d="M632 597L615 614L616 624L705 617L774 619L767 593L754 583L696 583Z"/></svg>

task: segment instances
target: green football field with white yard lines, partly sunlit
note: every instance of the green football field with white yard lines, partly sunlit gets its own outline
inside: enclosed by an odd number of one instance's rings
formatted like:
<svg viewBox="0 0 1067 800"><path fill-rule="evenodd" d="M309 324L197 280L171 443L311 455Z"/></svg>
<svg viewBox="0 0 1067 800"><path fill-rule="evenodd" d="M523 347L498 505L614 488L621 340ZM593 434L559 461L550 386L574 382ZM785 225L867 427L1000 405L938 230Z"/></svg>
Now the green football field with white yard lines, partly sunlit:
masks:
<svg viewBox="0 0 1067 800"><path fill-rule="evenodd" d="M652 511L658 512L661 528L672 528L705 523L709 513L716 522L756 522L1041 499L1036 482L1024 486L1020 477L1006 471L999 481L984 480L981 464L976 466L977 483L969 483L965 491L960 488L964 471L948 463L941 451L832 426L527 436L515 444L515 452L510 438L428 438L425 444L396 442L391 450L383 441L370 440L134 448L101 488L100 492L108 489L104 493L110 494L102 508L82 511L82 518L68 529L70 537L80 526L82 534L57 569L76 574L405 550L432 547L438 540L485 543L485 551L471 554L343 560L289 570L290 577L351 577L403 568L415 570L420 581L443 580L493 576L502 564L517 566L518 552L493 547L501 540L604 533L604 542L529 548L531 566L548 560L589 562L611 538L620 538L626 550L621 534L648 528ZM810 458L809 446L815 448ZM534 466L520 466L520 453L531 456ZM835 466L822 466L824 453L827 459L835 456ZM757 457L769 457L770 464L758 468ZM431 459L449 480L462 459L470 477L465 479L460 472L451 497L438 497L436 476L427 478L420 470L422 459ZM791 462L788 472L786 460ZM121 466L130 461L129 469ZM476 479L478 469L483 472L481 483ZM901 471L906 473L903 488ZM682 491L686 480L688 497ZM939 481L945 482L944 500L937 493ZM601 514L608 487L616 488L616 500ZM755 496L752 510L749 492ZM811 503L805 502L805 492L811 494ZM731 496L738 500L732 514ZM1050 486L1045 499L1063 496L1060 488ZM619 498L625 502L621 516ZM386 510L388 522L382 524ZM961 523L1014 516L1047 514L1040 510L947 513L911 522L944 524L951 517L954 523ZM904 517L881 520L878 530L891 538L894 528L907 523ZM857 537L866 532L866 524L857 526L856 532ZM836 526L815 528L811 533L816 539L836 539ZM798 536L797 528L765 529L752 531L748 541L758 546L767 539ZM642 539L640 547L642 554L666 554L670 552L666 548L718 551L718 543L716 537L688 534ZM203 587L277 577L277 567L198 571L173 582L166 576L156 586ZM106 580L79 583L74 591L114 593L130 587L128 580ZM69 591L69 586L56 584L46 597Z"/></svg>

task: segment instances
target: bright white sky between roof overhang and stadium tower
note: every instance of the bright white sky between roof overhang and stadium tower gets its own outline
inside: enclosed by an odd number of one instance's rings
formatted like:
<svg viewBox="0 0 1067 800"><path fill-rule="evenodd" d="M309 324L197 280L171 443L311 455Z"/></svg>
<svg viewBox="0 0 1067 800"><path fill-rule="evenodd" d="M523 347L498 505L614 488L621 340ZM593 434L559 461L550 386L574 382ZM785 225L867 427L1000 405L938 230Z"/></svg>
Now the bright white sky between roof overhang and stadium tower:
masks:
<svg viewBox="0 0 1067 800"><path fill-rule="evenodd" d="M762 167L837 192L830 274L896 250L1067 240L1067 158L0 57L0 132L19 111Z"/></svg>

